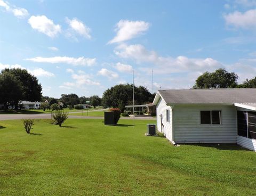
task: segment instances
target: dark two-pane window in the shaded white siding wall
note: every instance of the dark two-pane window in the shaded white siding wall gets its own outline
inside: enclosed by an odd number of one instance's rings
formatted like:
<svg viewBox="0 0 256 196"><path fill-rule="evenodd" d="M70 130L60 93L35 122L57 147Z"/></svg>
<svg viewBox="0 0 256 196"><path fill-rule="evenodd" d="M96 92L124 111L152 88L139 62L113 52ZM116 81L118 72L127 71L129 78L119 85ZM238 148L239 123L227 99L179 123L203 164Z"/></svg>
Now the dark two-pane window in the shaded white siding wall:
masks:
<svg viewBox="0 0 256 196"><path fill-rule="evenodd" d="M201 111L201 124L203 125L220 125L221 124L221 111Z"/></svg>

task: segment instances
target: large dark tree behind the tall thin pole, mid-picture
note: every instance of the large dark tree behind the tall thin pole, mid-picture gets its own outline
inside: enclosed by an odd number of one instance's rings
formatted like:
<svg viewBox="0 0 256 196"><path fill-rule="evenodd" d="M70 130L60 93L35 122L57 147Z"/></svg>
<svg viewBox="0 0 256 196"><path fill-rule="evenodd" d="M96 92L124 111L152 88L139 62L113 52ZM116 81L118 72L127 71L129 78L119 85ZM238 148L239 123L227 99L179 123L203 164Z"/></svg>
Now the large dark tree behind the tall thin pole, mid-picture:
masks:
<svg viewBox="0 0 256 196"><path fill-rule="evenodd" d="M137 104L145 104L151 101L151 93L146 87L134 87L134 100ZM107 89L102 96L104 107L114 107L124 110L125 105L132 102L132 85L119 84Z"/></svg>

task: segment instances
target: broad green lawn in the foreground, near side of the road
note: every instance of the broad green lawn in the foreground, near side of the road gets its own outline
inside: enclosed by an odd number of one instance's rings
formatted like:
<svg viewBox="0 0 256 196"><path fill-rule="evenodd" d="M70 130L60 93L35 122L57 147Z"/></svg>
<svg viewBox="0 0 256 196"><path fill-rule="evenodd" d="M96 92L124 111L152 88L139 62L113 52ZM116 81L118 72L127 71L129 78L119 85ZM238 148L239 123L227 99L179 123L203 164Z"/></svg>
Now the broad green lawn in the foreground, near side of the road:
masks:
<svg viewBox="0 0 256 196"><path fill-rule="evenodd" d="M145 137L147 123L0 121L0 195L255 195L256 153Z"/></svg>

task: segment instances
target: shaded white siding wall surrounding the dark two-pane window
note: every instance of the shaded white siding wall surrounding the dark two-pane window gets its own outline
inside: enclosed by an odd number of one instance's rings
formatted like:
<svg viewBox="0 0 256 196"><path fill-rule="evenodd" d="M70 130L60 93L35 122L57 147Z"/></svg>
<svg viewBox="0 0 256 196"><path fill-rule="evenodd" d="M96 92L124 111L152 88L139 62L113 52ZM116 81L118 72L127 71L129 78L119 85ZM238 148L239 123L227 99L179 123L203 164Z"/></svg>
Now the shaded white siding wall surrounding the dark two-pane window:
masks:
<svg viewBox="0 0 256 196"><path fill-rule="evenodd" d="M201 125L201 110L221 110L221 125ZM174 142L237 143L234 106L175 105L173 112Z"/></svg>

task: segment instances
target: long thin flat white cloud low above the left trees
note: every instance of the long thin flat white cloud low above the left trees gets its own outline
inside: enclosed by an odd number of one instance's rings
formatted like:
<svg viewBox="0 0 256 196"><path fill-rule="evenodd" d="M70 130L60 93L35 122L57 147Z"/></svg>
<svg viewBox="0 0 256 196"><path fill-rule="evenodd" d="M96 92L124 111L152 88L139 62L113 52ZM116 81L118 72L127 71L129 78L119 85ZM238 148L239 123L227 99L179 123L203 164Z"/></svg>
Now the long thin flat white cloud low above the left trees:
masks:
<svg viewBox="0 0 256 196"><path fill-rule="evenodd" d="M84 58L84 56L79 58L73 58L68 56L54 56L49 58L44 58L37 56L35 58L25 59L28 61L41 62L41 63L66 63L72 64L73 66L92 66L96 63L96 59Z"/></svg>

